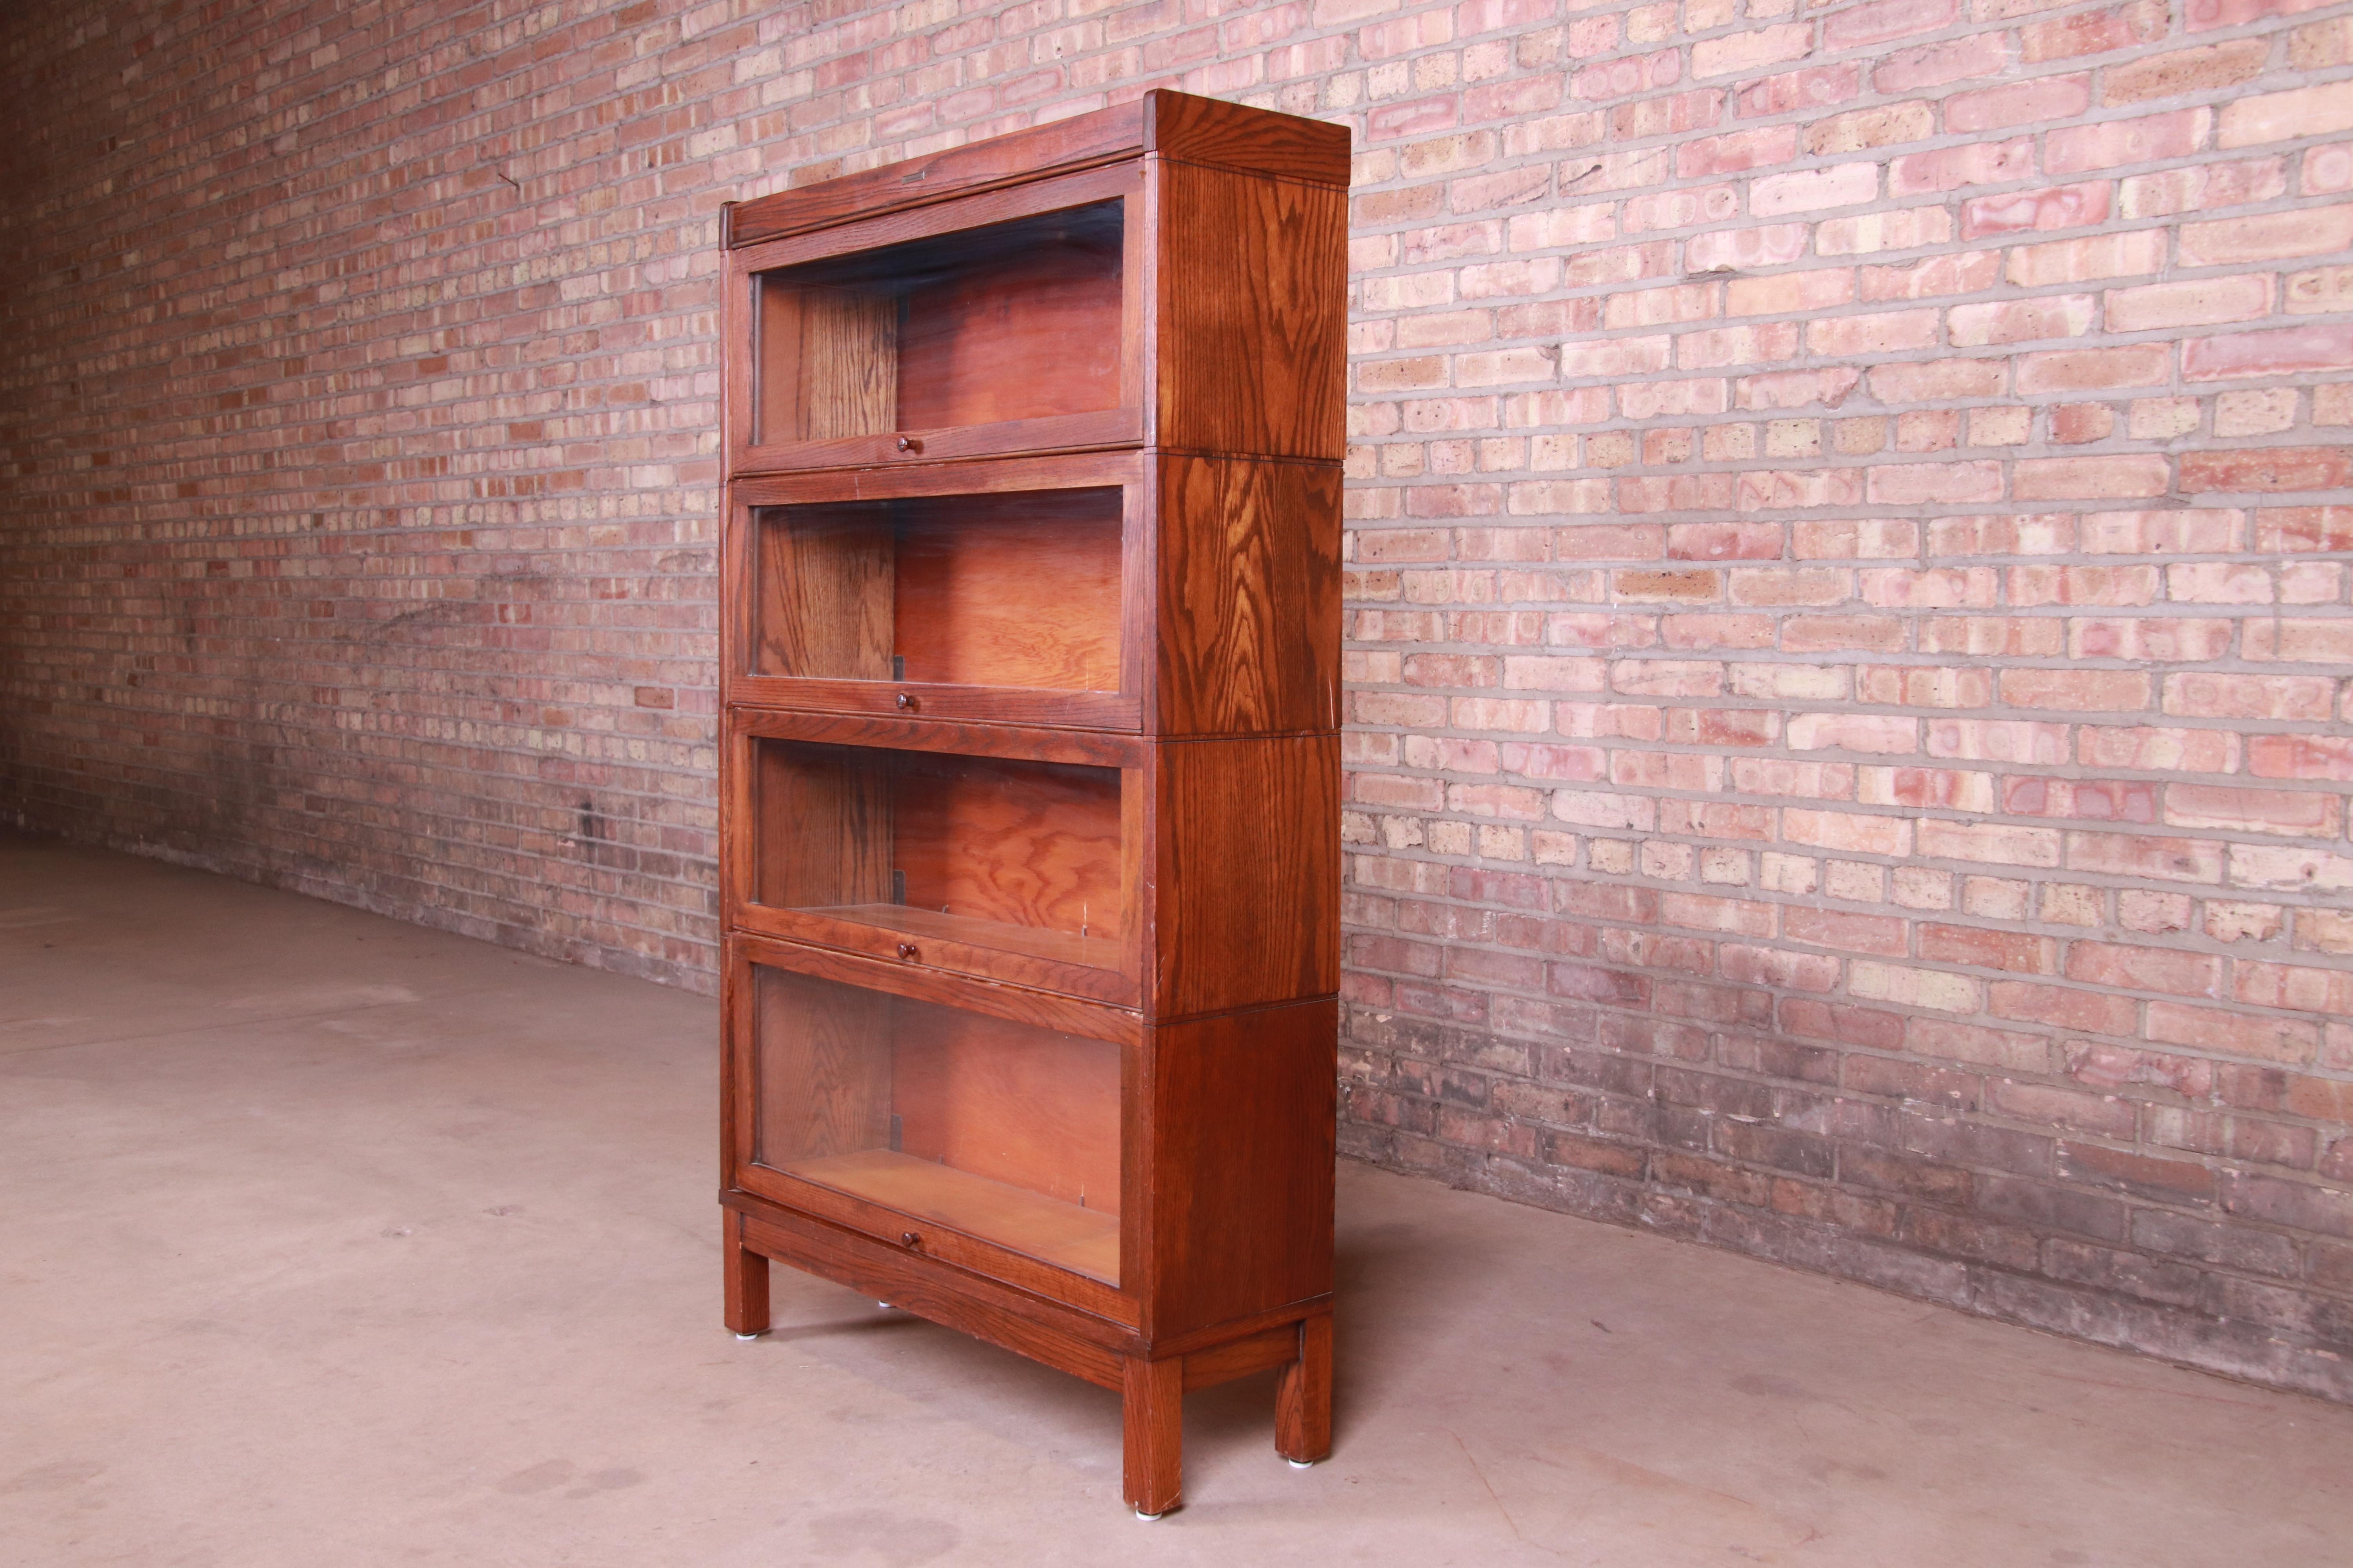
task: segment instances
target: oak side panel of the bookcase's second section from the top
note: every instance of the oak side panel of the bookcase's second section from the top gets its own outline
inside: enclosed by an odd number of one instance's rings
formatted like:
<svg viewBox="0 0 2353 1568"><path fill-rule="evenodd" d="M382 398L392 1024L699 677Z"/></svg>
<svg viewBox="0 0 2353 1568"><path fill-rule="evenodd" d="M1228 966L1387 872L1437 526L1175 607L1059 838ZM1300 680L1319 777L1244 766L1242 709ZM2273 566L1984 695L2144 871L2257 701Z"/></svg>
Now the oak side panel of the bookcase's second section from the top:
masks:
<svg viewBox="0 0 2353 1568"><path fill-rule="evenodd" d="M1160 458L1158 729L1339 729L1337 465Z"/></svg>

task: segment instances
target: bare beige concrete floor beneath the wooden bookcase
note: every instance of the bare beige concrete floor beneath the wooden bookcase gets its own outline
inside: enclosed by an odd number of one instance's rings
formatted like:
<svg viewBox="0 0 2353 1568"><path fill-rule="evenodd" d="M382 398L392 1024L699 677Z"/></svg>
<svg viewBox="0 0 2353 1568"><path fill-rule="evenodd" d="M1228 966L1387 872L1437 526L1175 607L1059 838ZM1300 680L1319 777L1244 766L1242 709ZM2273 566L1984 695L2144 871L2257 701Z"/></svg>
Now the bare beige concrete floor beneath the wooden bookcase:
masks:
<svg viewBox="0 0 2353 1568"><path fill-rule="evenodd" d="M0 837L0 1563L2353 1561L2353 1410L1341 1171L1339 1443L776 1272L713 1006Z"/></svg>

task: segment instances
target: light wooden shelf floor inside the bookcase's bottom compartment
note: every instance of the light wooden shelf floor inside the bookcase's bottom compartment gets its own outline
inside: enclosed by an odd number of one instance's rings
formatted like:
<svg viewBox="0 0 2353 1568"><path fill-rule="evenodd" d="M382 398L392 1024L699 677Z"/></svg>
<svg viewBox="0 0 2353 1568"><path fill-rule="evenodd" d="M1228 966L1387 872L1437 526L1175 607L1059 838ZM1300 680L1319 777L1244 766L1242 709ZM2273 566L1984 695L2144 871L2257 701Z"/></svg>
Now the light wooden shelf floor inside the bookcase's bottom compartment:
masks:
<svg viewBox="0 0 2353 1568"><path fill-rule="evenodd" d="M776 1168L915 1220L948 1225L1059 1269L1120 1284L1120 1220L1101 1208L1080 1208L894 1150L795 1159Z"/></svg>

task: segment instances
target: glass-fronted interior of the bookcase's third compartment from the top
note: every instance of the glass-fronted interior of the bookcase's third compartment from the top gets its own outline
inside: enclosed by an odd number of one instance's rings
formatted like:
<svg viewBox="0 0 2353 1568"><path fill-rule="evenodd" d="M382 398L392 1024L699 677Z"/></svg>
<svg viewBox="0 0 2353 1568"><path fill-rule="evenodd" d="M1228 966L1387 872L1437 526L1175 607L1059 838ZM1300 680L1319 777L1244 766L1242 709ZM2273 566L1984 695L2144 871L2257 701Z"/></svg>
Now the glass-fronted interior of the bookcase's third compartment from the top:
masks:
<svg viewBox="0 0 2353 1568"><path fill-rule="evenodd" d="M1118 969L1120 771L755 741L753 900Z"/></svg>

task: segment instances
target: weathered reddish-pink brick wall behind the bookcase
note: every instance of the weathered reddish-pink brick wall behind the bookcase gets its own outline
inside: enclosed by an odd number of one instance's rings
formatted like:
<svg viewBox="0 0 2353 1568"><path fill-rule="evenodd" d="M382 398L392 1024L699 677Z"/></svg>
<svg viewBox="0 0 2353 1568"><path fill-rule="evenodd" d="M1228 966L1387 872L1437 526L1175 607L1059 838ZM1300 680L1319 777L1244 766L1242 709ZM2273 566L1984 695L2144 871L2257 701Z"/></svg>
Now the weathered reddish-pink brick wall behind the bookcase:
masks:
<svg viewBox="0 0 2353 1568"><path fill-rule="evenodd" d="M0 28L28 823L701 983L715 205L1337 118L1348 1147L2353 1396L2353 7Z"/></svg>

